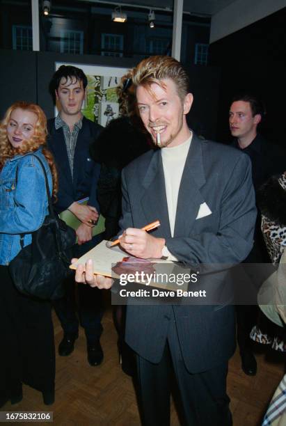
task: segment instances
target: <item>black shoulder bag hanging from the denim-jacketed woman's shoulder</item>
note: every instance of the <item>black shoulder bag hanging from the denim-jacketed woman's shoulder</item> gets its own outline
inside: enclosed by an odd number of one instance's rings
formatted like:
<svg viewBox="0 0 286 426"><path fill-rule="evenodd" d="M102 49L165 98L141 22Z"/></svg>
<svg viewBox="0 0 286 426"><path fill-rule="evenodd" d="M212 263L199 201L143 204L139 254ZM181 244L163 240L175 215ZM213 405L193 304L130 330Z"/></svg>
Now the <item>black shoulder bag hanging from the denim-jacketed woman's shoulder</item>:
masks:
<svg viewBox="0 0 286 426"><path fill-rule="evenodd" d="M33 157L40 162L45 175L49 214L42 226L32 232L31 244L24 248L24 234L21 234L22 250L11 260L9 270L19 292L39 299L54 300L64 294L63 280L69 274L70 249L76 242L76 233L54 213L45 166L39 157Z"/></svg>

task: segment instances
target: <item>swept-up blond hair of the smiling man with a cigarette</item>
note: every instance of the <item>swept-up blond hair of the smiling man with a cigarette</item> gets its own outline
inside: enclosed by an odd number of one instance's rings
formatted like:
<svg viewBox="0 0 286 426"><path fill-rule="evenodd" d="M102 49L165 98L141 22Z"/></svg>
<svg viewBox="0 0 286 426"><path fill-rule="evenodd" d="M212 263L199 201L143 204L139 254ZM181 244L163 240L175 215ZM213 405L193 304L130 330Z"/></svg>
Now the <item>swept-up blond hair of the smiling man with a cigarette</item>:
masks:
<svg viewBox="0 0 286 426"><path fill-rule="evenodd" d="M189 93L189 77L182 64L170 56L150 56L143 59L132 70L132 81L135 87L143 86L147 89L150 85L159 84L165 88L163 79L171 79L177 88L177 94L182 102Z"/></svg>

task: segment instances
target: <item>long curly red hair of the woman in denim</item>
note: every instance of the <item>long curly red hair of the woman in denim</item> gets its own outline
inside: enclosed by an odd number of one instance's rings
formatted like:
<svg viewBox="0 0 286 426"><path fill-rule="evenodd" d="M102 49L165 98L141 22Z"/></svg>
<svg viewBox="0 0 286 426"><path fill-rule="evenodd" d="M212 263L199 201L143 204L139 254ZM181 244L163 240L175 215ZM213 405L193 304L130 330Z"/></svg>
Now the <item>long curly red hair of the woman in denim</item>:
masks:
<svg viewBox="0 0 286 426"><path fill-rule="evenodd" d="M34 113L37 117L37 123L35 125L35 133L29 139L29 141L23 141L21 147L14 148L9 140L7 135L7 126L10 120L10 116L15 111L15 109L22 109L24 111L29 111ZM3 168L6 161L10 158L15 157L15 155L24 155L27 152L34 152L42 146L42 154L47 159L49 168L51 169L51 176L53 179L53 196L56 198L56 193L58 191L58 174L56 171L56 165L54 164L54 158L51 155L51 152L46 148L45 143L47 139L47 118L42 109L36 105L29 102L18 101L15 102L8 108L5 113L5 116L0 124L0 171Z"/></svg>

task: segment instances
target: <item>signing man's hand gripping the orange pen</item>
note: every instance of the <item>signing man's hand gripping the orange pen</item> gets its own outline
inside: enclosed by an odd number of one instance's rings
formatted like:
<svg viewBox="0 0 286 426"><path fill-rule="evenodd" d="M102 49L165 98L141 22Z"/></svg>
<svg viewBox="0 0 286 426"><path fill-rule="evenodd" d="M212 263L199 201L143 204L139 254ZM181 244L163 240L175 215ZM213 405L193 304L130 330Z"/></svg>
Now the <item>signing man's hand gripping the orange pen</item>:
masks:
<svg viewBox="0 0 286 426"><path fill-rule="evenodd" d="M161 259L164 238L152 237L148 232L137 228L127 228L120 238L120 246L136 258Z"/></svg>

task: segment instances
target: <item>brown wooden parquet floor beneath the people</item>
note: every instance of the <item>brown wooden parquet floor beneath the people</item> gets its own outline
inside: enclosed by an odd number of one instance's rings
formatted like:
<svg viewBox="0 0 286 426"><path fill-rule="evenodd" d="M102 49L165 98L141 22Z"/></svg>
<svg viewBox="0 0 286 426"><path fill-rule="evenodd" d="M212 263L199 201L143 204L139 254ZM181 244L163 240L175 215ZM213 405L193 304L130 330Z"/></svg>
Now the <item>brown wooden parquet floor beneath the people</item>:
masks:
<svg viewBox="0 0 286 426"><path fill-rule="evenodd" d="M88 365L86 339L81 330L74 352L67 357L56 357L56 402L47 407L38 391L24 386L22 402L13 406L8 403L1 410L53 411L56 426L139 426L141 423L132 379L122 372L118 363L117 337L110 307L106 309L103 325L102 365ZM62 330L55 315L54 326L57 348ZM275 361L268 359L264 348L263 351L260 348L256 356L258 370L255 377L248 377L241 371L237 352L230 360L228 395L234 426L260 426L271 395L283 377L283 357L275 356L278 358ZM171 425L180 425L173 404Z"/></svg>

